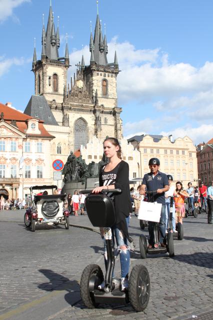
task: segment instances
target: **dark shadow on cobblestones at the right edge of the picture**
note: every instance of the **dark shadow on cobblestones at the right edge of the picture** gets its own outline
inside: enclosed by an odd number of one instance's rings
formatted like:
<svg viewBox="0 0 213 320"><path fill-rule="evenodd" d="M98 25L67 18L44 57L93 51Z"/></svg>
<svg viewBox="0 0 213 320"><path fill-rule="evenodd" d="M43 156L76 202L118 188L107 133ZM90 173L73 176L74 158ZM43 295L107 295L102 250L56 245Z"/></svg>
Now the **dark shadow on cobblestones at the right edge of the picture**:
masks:
<svg viewBox="0 0 213 320"><path fill-rule="evenodd" d="M172 259L200 267L213 269L213 253L196 252L192 254L179 254L175 255Z"/></svg>

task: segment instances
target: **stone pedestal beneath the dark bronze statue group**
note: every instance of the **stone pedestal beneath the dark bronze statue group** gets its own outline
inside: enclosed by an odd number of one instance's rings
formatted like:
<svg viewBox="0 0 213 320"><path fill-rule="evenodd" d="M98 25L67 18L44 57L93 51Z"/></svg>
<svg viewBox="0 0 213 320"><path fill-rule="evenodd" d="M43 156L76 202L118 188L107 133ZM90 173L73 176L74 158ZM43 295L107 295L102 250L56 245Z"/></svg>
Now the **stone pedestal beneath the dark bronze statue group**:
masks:
<svg viewBox="0 0 213 320"><path fill-rule="evenodd" d="M96 183L95 183L96 182ZM85 189L94 189L99 186L98 178L88 178L84 184L82 182L66 182L61 190L62 194L74 194L74 190L80 191Z"/></svg>

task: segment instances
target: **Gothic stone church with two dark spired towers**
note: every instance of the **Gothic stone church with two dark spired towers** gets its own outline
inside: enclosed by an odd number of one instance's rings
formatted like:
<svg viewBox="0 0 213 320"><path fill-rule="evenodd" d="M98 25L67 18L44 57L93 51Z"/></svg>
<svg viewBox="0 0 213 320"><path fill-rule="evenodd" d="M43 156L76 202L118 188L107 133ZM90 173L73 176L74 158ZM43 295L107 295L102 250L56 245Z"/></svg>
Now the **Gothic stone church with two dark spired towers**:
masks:
<svg viewBox="0 0 213 320"><path fill-rule="evenodd" d="M122 109L117 106L117 55L115 51L114 61L108 63L107 40L106 35L102 35L98 11L94 35L90 33L89 65L85 65L82 56L70 82L67 82L67 71L72 62L69 61L68 44L66 42L64 57L59 56L59 47L59 28L55 32L50 5L47 26L45 28L44 23L42 26L42 51L39 60L34 48L32 71L35 95L31 97L24 113L43 120L45 127L54 126L51 134L55 137L57 131L60 132L60 127L66 127L68 130L64 139L67 138L69 151L79 150L93 136L101 141L107 135L120 140ZM40 105L43 105L42 113L38 113ZM46 129L48 130L47 127Z"/></svg>

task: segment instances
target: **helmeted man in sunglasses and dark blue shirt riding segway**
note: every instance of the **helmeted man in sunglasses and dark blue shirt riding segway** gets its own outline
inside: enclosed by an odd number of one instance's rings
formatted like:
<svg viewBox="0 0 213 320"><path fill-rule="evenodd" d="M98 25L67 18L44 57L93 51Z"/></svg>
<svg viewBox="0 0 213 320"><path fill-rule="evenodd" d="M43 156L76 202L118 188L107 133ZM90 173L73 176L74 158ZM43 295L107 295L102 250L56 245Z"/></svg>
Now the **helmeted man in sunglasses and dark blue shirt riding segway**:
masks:
<svg viewBox="0 0 213 320"><path fill-rule="evenodd" d="M140 194L144 195L145 192L153 192L153 200L157 203L161 203L161 214L159 221L159 231L160 231L160 246L165 247L165 195L164 193L168 191L168 178L165 173L159 171L160 161L157 158L151 158L148 162L150 169L149 173L146 173L142 180L142 185L140 187ZM145 191L146 190L146 191ZM154 194L155 193L155 194ZM149 233L149 244L148 248L152 248L154 245L153 236L153 222L148 223L148 233Z"/></svg>

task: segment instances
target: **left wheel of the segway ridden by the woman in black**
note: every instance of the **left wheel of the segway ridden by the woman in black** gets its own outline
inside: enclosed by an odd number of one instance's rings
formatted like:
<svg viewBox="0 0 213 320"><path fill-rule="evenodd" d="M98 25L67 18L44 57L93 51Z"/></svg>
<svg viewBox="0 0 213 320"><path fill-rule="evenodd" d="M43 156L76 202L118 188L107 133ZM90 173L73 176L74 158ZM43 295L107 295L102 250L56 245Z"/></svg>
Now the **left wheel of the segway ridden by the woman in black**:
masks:
<svg viewBox="0 0 213 320"><path fill-rule="evenodd" d="M92 291L97 289L97 286L102 282L103 272L99 265L89 264L84 268L80 278L80 296L87 308L93 309L98 305L94 301Z"/></svg>

